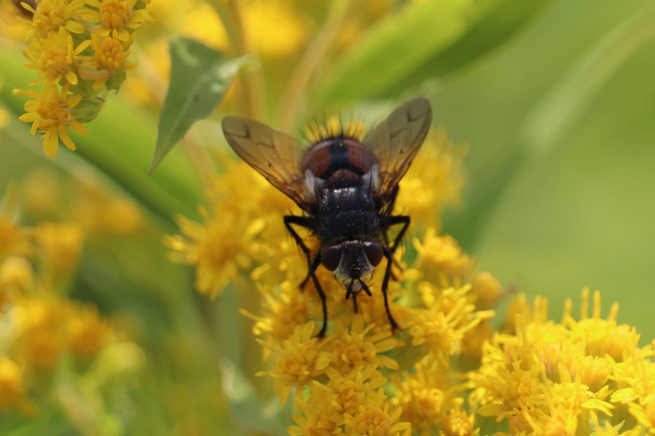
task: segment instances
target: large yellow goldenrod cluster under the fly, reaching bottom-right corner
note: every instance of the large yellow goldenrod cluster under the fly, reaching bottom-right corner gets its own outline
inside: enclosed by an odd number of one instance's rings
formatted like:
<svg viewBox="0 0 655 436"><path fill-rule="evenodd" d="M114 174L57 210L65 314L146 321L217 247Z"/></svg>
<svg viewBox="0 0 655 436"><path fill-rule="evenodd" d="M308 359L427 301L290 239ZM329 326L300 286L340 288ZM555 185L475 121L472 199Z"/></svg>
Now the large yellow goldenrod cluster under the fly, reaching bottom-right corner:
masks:
<svg viewBox="0 0 655 436"><path fill-rule="evenodd" d="M307 137L332 124L310 126ZM518 295L495 321L512 287L476 272L439 231L441 210L458 200L463 151L438 132L402 181L398 208L413 217L415 237L389 289L400 333L381 292L358 297L356 311L319 268L331 327L316 337L320 299L311 283L298 287L307 264L281 219L299 211L243 162L215 177L204 223L180 217L182 236L165 242L174 261L195 265L198 291L214 296L232 283L251 302L242 313L266 362L256 375L271 378L280 404L293 402L292 436L654 433L653 347L640 348L635 329L616 321L616 304L603 318L595 293L589 314L585 290L580 317L569 300L557 323L546 299Z"/></svg>

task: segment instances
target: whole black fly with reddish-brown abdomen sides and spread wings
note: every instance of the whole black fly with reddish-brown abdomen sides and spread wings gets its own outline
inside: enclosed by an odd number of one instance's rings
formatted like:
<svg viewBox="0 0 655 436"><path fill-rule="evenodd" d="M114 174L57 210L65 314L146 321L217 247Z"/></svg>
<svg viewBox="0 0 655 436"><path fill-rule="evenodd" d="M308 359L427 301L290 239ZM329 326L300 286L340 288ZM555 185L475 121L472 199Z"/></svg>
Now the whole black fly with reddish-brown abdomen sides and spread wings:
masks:
<svg viewBox="0 0 655 436"><path fill-rule="evenodd" d="M302 216L286 215L284 225L307 257L312 280L323 306L327 328L326 295L316 278L323 264L346 287L346 299L360 291L371 295L366 283L386 258L382 282L386 314L394 329L387 288L392 278L394 251L409 227L407 215L393 215L398 183L430 130L432 109L424 98L407 101L379 122L364 141L341 134L317 141L309 148L294 137L261 122L242 117L223 118L223 133L236 154L296 202ZM308 228L320 242L310 250L293 225ZM389 230L401 226L393 241ZM357 304L355 300L355 310Z"/></svg>

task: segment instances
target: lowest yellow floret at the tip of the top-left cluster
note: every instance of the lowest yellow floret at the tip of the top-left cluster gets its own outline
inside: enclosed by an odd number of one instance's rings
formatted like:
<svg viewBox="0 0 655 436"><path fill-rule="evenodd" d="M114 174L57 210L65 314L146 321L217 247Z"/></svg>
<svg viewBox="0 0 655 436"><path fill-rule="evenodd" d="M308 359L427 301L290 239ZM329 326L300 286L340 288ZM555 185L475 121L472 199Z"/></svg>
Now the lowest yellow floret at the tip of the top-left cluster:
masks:
<svg viewBox="0 0 655 436"><path fill-rule="evenodd" d="M56 87L44 89L42 94L35 91L14 90L14 94L26 97L33 97L36 100L25 103L25 110L28 113L18 117L24 122L31 122L31 133L37 130L43 133L43 151L54 158L59 147L59 139L62 138L64 145L74 151L75 144L68 136L67 130L70 127L78 134L88 135L88 130L71 117L71 107L75 107L82 100L82 96L68 97L68 84L62 86L62 92L58 93Z"/></svg>

